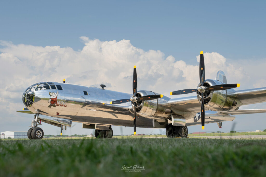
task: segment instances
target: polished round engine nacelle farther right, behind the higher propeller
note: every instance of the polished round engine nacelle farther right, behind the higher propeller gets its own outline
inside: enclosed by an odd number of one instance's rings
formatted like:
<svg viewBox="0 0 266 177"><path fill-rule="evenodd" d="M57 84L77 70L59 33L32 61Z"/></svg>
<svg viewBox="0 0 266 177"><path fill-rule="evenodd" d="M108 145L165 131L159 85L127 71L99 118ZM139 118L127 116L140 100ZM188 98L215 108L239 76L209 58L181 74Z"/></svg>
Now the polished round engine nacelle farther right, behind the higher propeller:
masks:
<svg viewBox="0 0 266 177"><path fill-rule="evenodd" d="M224 84L218 80L207 79L205 80L204 86L209 87L213 85ZM198 87L201 84L198 85ZM204 105L207 109L214 111L226 111L231 110L237 104L236 100L228 97L228 93L234 92L234 89L218 90L218 91L205 91ZM201 103L201 93L197 91L197 97Z"/></svg>

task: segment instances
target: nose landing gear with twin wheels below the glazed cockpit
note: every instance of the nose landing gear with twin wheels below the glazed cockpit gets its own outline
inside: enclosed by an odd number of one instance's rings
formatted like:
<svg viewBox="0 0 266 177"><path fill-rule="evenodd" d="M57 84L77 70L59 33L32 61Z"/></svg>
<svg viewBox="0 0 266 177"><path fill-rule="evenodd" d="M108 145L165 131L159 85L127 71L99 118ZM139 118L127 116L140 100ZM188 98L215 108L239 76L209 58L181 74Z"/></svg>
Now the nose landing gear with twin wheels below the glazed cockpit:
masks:
<svg viewBox="0 0 266 177"><path fill-rule="evenodd" d="M34 115L34 120L31 121L31 128L28 130L27 136L30 140L32 139L42 139L43 138L43 129L37 127L41 125L40 121L38 120L36 114Z"/></svg>

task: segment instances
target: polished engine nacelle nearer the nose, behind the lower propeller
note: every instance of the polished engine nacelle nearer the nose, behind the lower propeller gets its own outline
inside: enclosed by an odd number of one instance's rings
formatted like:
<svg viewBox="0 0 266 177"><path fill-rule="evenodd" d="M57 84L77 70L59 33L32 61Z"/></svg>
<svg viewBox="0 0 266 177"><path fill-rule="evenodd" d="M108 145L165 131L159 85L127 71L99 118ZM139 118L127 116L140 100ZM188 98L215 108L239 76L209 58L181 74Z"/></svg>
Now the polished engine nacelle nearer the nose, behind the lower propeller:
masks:
<svg viewBox="0 0 266 177"><path fill-rule="evenodd" d="M152 91L146 91L146 90L140 90L137 92L136 96L146 96L146 95L156 95L158 93L152 92ZM171 109L171 107L168 104L168 100L170 98L163 97L158 98L154 100L148 100L148 101L137 101L136 103L136 113L138 115L141 115L146 118L152 118L152 119L161 119L161 118L169 118L171 117L171 114L166 114L166 109ZM132 107L134 105L132 104Z"/></svg>

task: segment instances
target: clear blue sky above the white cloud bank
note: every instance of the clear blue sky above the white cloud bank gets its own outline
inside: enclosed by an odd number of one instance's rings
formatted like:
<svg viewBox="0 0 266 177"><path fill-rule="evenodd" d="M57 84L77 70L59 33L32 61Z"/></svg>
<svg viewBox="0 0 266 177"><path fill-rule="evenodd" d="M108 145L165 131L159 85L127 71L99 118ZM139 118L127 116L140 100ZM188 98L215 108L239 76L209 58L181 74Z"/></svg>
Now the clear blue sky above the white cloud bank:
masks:
<svg viewBox="0 0 266 177"><path fill-rule="evenodd" d="M0 38L82 49L80 36L129 39L192 63L198 51L264 58L265 1L1 1Z"/></svg>

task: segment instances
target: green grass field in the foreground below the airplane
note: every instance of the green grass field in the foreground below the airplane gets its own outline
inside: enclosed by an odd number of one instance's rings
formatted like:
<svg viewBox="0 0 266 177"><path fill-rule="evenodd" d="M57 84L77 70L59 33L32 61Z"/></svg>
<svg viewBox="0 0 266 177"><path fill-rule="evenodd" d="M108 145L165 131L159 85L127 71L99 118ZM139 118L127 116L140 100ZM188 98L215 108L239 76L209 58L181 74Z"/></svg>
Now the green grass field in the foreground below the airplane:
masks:
<svg viewBox="0 0 266 177"><path fill-rule="evenodd" d="M127 172L122 166L145 170ZM265 176L263 139L1 140L0 176Z"/></svg>

